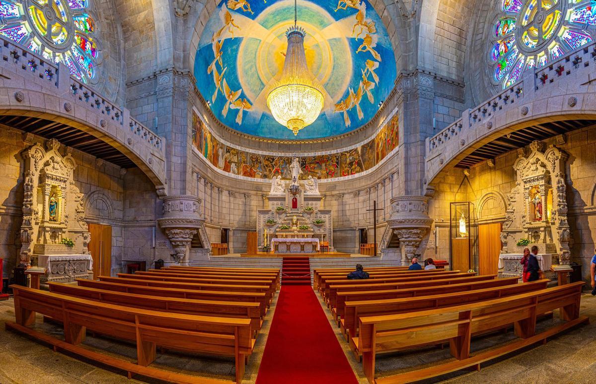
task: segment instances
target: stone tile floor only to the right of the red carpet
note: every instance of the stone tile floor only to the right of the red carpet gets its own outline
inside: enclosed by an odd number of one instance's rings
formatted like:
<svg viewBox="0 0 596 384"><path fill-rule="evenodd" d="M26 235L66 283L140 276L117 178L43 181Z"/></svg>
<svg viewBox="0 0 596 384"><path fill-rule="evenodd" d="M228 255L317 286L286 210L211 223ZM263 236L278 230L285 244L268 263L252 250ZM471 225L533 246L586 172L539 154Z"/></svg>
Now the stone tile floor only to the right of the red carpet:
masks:
<svg viewBox="0 0 596 384"><path fill-rule="evenodd" d="M317 295L318 296L318 295ZM346 358L362 384L368 384L362 364L356 361L346 339L334 324L331 312L321 302L327 318L342 345ZM579 326L563 335L550 339L547 344L526 349L520 354L505 358L491 365L483 365L480 371L458 371L449 376L428 380L429 383L444 382L450 384L467 383L546 383L581 384L596 383L596 297L591 294L582 295L581 314L590 317L590 324ZM537 329L550 327L558 320L558 311L554 319L541 320ZM514 338L513 332L496 334L473 341L472 349L487 348L498 345ZM416 353L402 353L379 355L375 369L377 377L389 376L402 369L422 364L432 364L433 361L450 358L449 348L429 348Z"/></svg>

